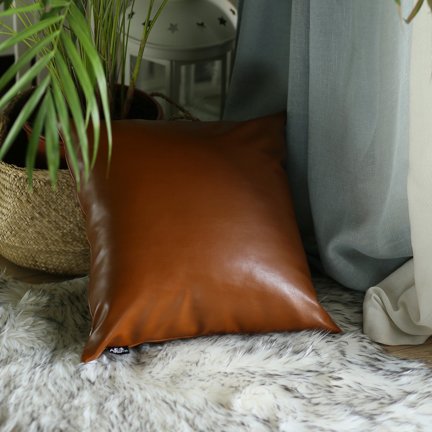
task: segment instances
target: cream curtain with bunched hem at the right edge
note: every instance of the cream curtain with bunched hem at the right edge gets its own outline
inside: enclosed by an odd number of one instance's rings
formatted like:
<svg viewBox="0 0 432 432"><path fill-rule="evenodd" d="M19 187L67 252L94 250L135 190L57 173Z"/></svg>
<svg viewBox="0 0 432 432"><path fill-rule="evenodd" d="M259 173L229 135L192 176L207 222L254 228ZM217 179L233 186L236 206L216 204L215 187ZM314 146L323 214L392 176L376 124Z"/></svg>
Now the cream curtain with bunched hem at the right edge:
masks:
<svg viewBox="0 0 432 432"><path fill-rule="evenodd" d="M408 208L414 257L365 295L364 332L387 345L432 335L432 15L413 20L410 67Z"/></svg>

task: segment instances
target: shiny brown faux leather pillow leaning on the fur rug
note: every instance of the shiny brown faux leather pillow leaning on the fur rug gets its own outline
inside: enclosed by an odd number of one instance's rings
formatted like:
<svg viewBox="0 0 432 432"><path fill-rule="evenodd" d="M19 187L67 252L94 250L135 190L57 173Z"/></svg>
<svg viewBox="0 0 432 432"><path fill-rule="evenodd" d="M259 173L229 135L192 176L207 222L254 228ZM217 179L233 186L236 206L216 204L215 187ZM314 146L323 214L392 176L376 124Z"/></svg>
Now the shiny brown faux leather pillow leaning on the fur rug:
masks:
<svg viewBox="0 0 432 432"><path fill-rule="evenodd" d="M78 193L91 249L83 362L107 346L200 335L340 332L295 222L284 114L113 122L108 179L104 139Z"/></svg>

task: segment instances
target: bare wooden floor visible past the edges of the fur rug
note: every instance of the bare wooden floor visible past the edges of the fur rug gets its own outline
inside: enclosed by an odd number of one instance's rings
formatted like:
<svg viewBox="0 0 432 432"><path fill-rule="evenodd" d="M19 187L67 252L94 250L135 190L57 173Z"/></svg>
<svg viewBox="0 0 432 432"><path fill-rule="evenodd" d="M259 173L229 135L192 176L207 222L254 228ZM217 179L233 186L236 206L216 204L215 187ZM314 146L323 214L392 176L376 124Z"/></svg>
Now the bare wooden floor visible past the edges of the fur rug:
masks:
<svg viewBox="0 0 432 432"><path fill-rule="evenodd" d="M51 283L71 279L73 276L58 276L19 267L0 255L0 269L6 276L13 276L27 283ZM401 359L419 359L432 366L432 336L422 345L388 346L379 344L385 351Z"/></svg>

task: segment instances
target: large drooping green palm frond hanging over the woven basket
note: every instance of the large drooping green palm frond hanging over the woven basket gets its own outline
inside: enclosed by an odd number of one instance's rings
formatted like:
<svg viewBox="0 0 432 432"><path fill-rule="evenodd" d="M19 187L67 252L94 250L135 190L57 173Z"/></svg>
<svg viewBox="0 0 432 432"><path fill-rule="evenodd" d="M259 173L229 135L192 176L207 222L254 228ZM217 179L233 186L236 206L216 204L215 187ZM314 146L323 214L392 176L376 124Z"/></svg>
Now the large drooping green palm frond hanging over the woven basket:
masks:
<svg viewBox="0 0 432 432"><path fill-rule="evenodd" d="M23 91L44 69L48 69L48 77L42 81L29 98L25 107L11 127L0 148L0 159L13 144L20 128L31 116L35 116L35 129L29 143L29 154L26 158L28 173L35 165L35 142L33 136L40 135L40 125L44 124L47 146L47 163L53 186L59 168L59 135L58 124L64 133L65 145L69 150L73 165L76 165L76 149L70 134L70 119L73 120L79 136L79 146L83 155L86 178L94 165L100 136L99 102L105 118L109 120L108 87L105 71L100 56L93 44L89 23L83 15L84 2L81 0L34 0L29 6L14 6L10 2L0 0L5 10L0 19L15 14L31 11L38 13L36 22L22 20L25 28L12 35L0 44L0 53L16 43L26 41L29 48L0 78L0 92L22 68L37 58L16 83L0 98L0 109L4 108L19 92ZM11 29L10 29L11 30ZM76 43L73 40L76 40ZM97 92L96 92L97 86ZM78 92L83 93L83 100ZM99 98L99 99L98 99ZM89 162L89 145L86 129L89 121L94 129L94 151L92 163ZM111 124L107 123L108 145L111 152ZM36 127L37 126L37 127ZM31 174L29 186L31 187ZM79 187L79 178L77 178Z"/></svg>

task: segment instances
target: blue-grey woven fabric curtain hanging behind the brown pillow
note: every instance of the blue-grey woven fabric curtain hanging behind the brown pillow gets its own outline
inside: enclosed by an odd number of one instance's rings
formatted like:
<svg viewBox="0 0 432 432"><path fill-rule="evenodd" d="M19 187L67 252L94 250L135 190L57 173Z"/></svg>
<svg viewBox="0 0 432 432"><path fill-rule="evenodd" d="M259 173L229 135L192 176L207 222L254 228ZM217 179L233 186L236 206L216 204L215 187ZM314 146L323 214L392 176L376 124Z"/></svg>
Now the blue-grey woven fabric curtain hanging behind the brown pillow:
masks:
<svg viewBox="0 0 432 432"><path fill-rule="evenodd" d="M412 2L402 3L407 16ZM243 0L240 9L224 118L286 109L287 174L305 250L329 276L364 291L413 254L410 27L393 1Z"/></svg>

